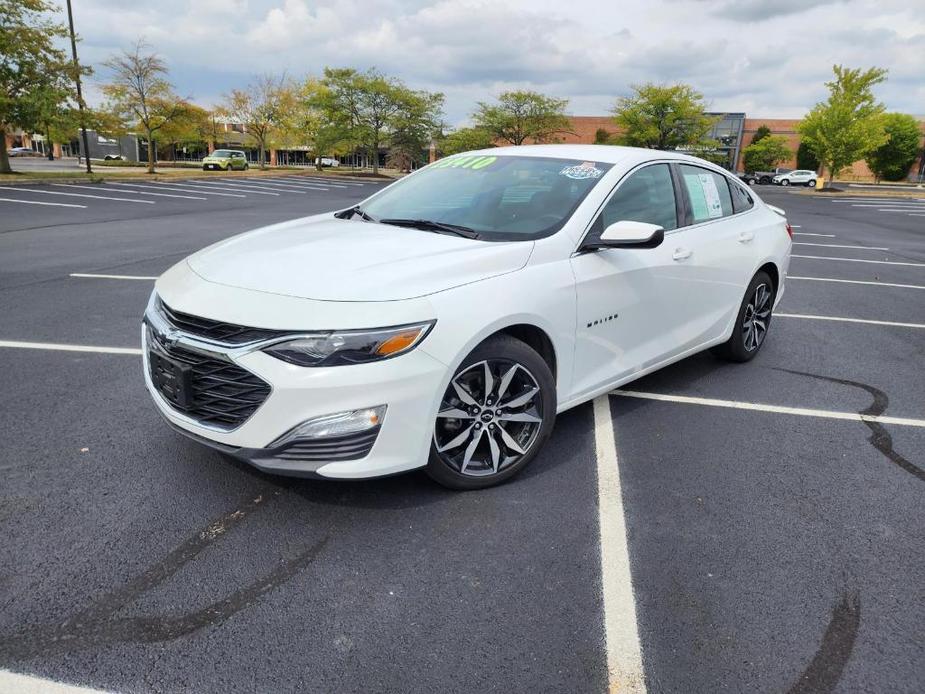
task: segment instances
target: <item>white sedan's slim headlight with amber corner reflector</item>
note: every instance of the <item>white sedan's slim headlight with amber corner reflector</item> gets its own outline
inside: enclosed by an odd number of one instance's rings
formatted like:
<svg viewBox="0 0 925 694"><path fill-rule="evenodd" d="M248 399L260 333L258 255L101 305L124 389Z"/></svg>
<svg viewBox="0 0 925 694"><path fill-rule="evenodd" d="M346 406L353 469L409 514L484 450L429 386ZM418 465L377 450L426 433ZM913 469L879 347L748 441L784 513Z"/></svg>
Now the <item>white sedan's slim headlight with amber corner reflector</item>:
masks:
<svg viewBox="0 0 925 694"><path fill-rule="evenodd" d="M278 342L263 351L298 366L363 364L397 357L414 349L430 332L434 322L305 335Z"/></svg>

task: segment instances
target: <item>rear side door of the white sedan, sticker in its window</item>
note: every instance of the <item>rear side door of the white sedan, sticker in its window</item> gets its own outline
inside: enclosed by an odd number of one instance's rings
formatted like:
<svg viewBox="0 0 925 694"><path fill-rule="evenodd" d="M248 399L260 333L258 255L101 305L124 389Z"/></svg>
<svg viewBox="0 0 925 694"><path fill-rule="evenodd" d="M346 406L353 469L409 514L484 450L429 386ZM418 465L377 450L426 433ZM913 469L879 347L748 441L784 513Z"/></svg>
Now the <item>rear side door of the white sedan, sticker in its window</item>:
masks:
<svg viewBox="0 0 925 694"><path fill-rule="evenodd" d="M690 251L684 265L694 306L688 316L690 349L720 337L742 300L754 267L755 229L749 204L739 198L747 191L721 173L691 164L677 164L683 194L685 222L683 245ZM736 210L739 208L739 211Z"/></svg>

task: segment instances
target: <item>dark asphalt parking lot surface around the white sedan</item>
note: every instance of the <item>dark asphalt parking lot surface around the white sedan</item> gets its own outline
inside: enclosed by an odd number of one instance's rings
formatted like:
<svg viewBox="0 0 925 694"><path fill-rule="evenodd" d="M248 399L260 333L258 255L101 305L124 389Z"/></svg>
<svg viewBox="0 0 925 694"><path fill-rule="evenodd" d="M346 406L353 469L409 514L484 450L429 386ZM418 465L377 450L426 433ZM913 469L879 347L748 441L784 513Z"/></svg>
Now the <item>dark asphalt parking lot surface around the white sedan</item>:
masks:
<svg viewBox="0 0 925 694"><path fill-rule="evenodd" d="M592 692L641 651L652 692L922 690L925 195L759 187L797 234L761 354L571 410L514 482L460 494L264 475L145 393L152 278L378 184L338 186L0 188L0 668L123 692Z"/></svg>

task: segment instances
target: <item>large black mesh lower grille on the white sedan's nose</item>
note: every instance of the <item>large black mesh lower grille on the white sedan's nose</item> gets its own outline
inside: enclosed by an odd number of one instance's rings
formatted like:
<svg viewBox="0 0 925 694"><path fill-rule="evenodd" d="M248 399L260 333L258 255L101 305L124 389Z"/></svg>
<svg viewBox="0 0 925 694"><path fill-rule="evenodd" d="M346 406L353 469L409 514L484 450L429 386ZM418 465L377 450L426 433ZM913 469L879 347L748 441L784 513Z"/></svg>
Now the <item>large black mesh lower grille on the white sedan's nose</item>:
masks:
<svg viewBox="0 0 925 694"><path fill-rule="evenodd" d="M270 385L227 359L172 345L148 328L151 381L171 408L200 424L234 429L270 395Z"/></svg>

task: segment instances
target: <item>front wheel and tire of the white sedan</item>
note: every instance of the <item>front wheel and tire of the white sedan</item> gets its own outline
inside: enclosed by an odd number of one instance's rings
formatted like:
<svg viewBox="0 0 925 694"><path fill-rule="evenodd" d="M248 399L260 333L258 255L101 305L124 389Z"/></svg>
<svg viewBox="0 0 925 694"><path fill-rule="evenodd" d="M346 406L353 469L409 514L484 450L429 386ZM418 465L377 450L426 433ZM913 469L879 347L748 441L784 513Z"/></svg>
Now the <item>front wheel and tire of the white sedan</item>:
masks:
<svg viewBox="0 0 925 694"><path fill-rule="evenodd" d="M466 357L443 394L427 474L451 489L483 489L523 470L552 433L556 383L537 352L508 335Z"/></svg>

